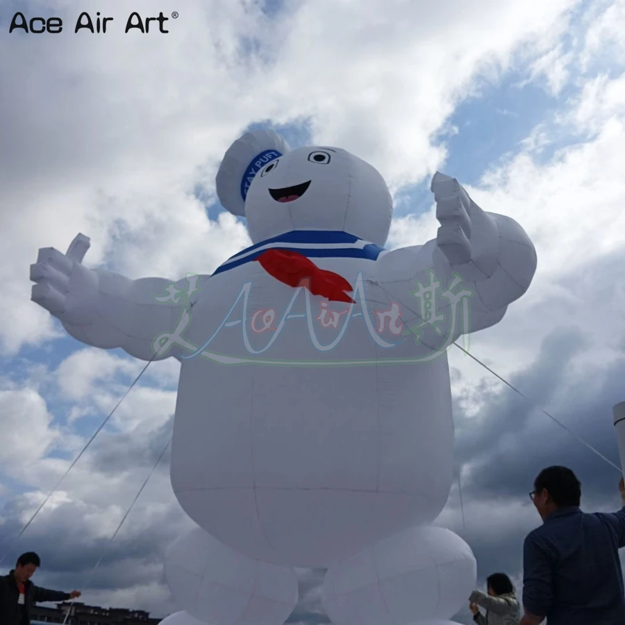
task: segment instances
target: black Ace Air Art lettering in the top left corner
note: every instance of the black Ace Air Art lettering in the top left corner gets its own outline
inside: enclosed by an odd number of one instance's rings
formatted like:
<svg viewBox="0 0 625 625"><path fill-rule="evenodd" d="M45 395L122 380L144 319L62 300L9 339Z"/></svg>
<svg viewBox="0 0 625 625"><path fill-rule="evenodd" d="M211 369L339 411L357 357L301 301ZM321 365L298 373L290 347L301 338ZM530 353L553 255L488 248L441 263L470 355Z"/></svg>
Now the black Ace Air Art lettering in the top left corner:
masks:
<svg viewBox="0 0 625 625"><path fill-rule="evenodd" d="M178 19L178 12L174 11L172 13L172 19ZM117 21L119 22L121 20L118 19ZM157 17L142 16L138 12L133 11L124 19L124 33L139 31L144 34L156 32L167 35L169 31L165 28L165 22L168 21L169 17L165 17L163 11L160 11ZM87 11L83 11L78 15L76 20L72 22L72 25L74 34L87 32L105 35L115 29L115 24L111 22L115 22L115 18L104 17L99 11L95 12L94 17ZM27 18L24 13L18 11L11 19L9 33L16 31L26 34L32 33L34 35L41 35L42 33L58 35L59 33L63 33L64 29L67 31L65 24L63 24L63 19L60 17Z"/></svg>

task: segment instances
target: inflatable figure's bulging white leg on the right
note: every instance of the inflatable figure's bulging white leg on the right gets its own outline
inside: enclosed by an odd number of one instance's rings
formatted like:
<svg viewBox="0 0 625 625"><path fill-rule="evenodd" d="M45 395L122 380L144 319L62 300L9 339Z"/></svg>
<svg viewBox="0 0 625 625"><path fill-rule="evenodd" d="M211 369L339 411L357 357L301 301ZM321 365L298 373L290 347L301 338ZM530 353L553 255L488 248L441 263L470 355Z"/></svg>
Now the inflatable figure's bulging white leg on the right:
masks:
<svg viewBox="0 0 625 625"><path fill-rule="evenodd" d="M467 604L476 573L462 538L416 527L335 562L324 580L324 607L335 625L443 625Z"/></svg>

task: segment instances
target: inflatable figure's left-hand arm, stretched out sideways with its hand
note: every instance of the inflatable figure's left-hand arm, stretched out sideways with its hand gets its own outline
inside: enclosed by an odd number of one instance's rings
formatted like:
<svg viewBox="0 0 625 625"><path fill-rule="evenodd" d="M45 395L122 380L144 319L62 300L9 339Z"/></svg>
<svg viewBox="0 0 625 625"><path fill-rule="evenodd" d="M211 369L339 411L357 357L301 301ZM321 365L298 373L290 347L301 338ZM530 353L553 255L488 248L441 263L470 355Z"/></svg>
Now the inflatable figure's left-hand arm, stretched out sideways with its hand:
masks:
<svg viewBox="0 0 625 625"><path fill-rule="evenodd" d="M103 349L121 347L142 360L176 356L175 348L156 355L157 335L173 331L185 303L192 303L198 276L174 283L164 278L130 280L82 265L89 239L79 234L66 254L40 249L31 265L31 299L60 320L75 339Z"/></svg>

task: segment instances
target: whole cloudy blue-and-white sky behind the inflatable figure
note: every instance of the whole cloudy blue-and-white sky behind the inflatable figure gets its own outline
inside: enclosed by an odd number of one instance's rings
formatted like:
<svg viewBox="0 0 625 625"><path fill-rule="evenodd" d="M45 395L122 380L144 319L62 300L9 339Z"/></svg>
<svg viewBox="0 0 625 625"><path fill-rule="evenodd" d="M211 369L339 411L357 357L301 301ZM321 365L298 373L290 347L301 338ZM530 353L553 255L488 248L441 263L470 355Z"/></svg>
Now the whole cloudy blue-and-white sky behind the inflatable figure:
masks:
<svg viewBox="0 0 625 625"><path fill-rule="evenodd" d="M251 125L292 146L344 147L394 193L389 247L433 238L428 183L458 178L537 249L530 290L470 350L455 347L457 467L438 522L469 542L481 581L516 580L539 523L544 466L583 482L583 507L619 506L611 408L625 400L625 1L108 1L105 34L74 33L84 3L0 6L0 539L36 549L42 585L85 601L175 610L169 542L189 526L167 454L115 541L172 428L178 365L151 365L24 536L13 540L144 363L86 348L30 301L40 247L90 236L85 265L131 278L210 273L249 244L215 173ZM13 13L62 17L59 34L8 33ZM124 34L130 12L168 34ZM94 12L92 17L96 17ZM90 572L100 556L97 571ZM292 622L323 623L322 574L301 571ZM482 583L482 582L481 582ZM467 622L467 613L458 617Z"/></svg>

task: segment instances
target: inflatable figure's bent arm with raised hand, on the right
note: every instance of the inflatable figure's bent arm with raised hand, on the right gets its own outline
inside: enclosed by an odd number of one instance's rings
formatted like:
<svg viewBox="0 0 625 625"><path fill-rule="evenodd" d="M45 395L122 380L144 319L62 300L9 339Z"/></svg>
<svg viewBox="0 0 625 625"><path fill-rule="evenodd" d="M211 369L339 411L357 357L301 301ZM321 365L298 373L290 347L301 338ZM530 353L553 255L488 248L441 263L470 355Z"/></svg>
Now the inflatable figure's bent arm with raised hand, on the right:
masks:
<svg viewBox="0 0 625 625"><path fill-rule="evenodd" d="M435 279L443 289L455 284L456 292L465 290L470 314L457 338L503 318L508 305L528 290L536 271L536 252L514 219L485 213L456 179L437 172L431 190L441 224L436 239L385 254L379 261L379 276L392 298L415 312L419 312L412 297L415 283ZM432 272L433 278L428 278ZM435 297L442 300L442 308L453 303L440 293Z"/></svg>

